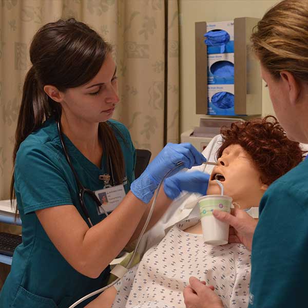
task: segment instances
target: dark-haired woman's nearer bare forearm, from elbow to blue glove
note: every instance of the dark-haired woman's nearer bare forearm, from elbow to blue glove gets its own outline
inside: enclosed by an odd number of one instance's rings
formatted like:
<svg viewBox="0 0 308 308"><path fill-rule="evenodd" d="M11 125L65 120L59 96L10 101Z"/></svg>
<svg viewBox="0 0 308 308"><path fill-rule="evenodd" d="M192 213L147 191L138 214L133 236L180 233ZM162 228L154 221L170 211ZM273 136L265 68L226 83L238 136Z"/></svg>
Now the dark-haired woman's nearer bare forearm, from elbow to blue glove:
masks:
<svg viewBox="0 0 308 308"><path fill-rule="evenodd" d="M108 217L87 230L81 254L91 277L99 276L128 243L145 209L146 204L128 192Z"/></svg>

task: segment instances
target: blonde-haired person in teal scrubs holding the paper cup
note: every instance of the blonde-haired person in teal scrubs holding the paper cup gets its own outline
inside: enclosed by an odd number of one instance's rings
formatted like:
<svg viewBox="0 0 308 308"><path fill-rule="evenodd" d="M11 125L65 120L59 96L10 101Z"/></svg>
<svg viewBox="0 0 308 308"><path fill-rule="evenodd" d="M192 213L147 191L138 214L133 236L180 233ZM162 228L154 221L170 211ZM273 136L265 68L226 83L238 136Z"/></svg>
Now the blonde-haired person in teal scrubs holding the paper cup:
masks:
<svg viewBox="0 0 308 308"><path fill-rule="evenodd" d="M251 41L287 137L308 144L308 1L276 4L258 23ZM213 214L233 226L230 241L252 249L249 303L243 308L308 306L308 159L268 187L258 223L240 209L234 215ZM213 287L196 278L189 282L186 307L223 308Z"/></svg>

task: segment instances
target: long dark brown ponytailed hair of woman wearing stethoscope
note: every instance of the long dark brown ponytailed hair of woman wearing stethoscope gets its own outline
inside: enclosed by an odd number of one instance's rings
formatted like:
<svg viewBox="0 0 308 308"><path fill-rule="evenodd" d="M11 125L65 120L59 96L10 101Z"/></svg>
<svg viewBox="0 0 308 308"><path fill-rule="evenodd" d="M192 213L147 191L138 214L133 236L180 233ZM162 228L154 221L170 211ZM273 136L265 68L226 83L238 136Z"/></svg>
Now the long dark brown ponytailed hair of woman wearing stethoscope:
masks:
<svg viewBox="0 0 308 308"><path fill-rule="evenodd" d="M32 67L28 71L16 128L13 164L21 143L50 117L61 119L61 105L44 92L45 85L60 91L86 84L101 69L111 46L84 23L59 20L44 25L33 37L30 46ZM100 136L107 162L111 160L114 180L123 182L125 166L120 144L112 125L100 123ZM15 198L14 173L10 187L11 202ZM17 208L16 208L17 213Z"/></svg>

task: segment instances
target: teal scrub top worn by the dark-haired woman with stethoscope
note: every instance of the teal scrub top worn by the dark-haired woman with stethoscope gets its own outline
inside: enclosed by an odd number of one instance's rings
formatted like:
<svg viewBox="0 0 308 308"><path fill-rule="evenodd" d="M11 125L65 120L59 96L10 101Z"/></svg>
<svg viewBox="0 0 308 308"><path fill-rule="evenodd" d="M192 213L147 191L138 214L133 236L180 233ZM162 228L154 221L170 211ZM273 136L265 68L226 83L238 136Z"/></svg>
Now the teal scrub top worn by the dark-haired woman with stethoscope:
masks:
<svg viewBox="0 0 308 308"><path fill-rule="evenodd" d="M125 160L127 193L134 180L136 151L127 128L113 120L108 121L118 139ZM102 189L100 175L107 173L106 157L102 168L91 163L64 136L72 165L85 188ZM81 297L106 285L109 266L100 277L92 279L75 271L48 238L35 211L51 206L73 204L80 208L78 187L66 161L57 126L53 119L30 134L17 151L15 163L15 194L22 219L23 243L15 249L11 272L0 294L0 307L5 308L67 308ZM98 215L97 207L85 197L90 219L96 224L105 218ZM104 240L104 235L102 235ZM95 297L84 301L84 307Z"/></svg>

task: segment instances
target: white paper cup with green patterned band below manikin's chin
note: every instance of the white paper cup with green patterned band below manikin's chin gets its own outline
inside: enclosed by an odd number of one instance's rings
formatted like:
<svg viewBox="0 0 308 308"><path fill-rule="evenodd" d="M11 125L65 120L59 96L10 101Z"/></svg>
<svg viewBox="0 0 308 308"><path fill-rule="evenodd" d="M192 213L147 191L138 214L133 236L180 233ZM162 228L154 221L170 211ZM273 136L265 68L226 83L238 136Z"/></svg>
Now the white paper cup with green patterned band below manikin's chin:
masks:
<svg viewBox="0 0 308 308"><path fill-rule="evenodd" d="M213 216L213 210L219 209L230 213L232 198L221 195L209 195L198 199L202 225L203 241L209 245L228 243L229 224Z"/></svg>

